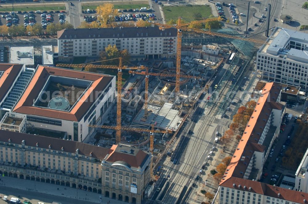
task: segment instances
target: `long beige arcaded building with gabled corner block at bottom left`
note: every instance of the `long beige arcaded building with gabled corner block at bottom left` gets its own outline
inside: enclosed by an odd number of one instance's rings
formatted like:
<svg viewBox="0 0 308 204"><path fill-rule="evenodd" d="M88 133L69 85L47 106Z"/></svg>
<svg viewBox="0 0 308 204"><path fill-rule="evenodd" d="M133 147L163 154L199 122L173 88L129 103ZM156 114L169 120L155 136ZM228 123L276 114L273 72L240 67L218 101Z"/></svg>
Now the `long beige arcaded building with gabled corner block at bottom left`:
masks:
<svg viewBox="0 0 308 204"><path fill-rule="evenodd" d="M130 203L141 203L150 182L152 157L134 147L107 149L13 131L0 130L0 134L0 173L5 176L83 189Z"/></svg>

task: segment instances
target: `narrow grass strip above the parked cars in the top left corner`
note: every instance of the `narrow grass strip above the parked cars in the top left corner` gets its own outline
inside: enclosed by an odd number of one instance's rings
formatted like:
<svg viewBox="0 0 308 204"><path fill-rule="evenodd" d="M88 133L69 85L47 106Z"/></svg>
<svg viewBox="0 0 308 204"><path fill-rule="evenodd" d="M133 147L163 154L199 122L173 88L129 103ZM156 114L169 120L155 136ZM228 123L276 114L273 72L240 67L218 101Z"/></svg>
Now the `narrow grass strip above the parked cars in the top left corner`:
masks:
<svg viewBox="0 0 308 204"><path fill-rule="evenodd" d="M48 6L42 6L41 4L35 6L33 5L25 5L25 6L14 6L14 11L51 11L51 10L64 10L64 4L48 4ZM12 11L12 5L9 4L1 4L0 11L9 12Z"/></svg>

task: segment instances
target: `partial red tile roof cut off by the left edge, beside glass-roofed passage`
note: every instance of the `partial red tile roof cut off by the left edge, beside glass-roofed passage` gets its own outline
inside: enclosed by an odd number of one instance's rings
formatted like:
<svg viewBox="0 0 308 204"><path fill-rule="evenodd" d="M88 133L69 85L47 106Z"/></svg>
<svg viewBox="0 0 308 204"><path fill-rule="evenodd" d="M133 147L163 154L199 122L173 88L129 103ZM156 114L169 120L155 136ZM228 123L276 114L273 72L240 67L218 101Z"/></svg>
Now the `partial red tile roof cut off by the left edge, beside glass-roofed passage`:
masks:
<svg viewBox="0 0 308 204"><path fill-rule="evenodd" d="M2 75L0 77L0 101L9 91L13 81L18 76L18 73L22 70L23 65L19 64L0 64L0 71Z"/></svg>

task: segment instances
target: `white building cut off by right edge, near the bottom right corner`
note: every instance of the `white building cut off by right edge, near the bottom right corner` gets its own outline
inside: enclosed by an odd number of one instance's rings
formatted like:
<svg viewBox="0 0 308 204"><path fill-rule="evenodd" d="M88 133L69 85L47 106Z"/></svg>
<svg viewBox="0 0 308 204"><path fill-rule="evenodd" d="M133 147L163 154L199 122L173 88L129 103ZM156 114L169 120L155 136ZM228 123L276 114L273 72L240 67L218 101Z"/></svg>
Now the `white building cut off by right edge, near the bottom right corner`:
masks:
<svg viewBox="0 0 308 204"><path fill-rule="evenodd" d="M295 173L294 190L308 193L308 149Z"/></svg>

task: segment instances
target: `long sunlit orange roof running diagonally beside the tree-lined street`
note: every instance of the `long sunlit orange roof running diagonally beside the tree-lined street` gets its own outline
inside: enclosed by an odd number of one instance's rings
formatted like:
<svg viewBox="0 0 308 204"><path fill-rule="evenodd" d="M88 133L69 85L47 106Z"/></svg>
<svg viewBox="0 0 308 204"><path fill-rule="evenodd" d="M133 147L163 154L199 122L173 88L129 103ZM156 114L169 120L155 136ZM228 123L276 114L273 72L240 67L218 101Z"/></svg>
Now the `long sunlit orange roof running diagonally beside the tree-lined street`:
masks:
<svg viewBox="0 0 308 204"><path fill-rule="evenodd" d="M221 184L231 178L231 176L243 178L249 161L253 156L253 152L263 152L265 150L266 147L258 145L257 143L269 119L270 113L272 112L273 105L271 104L277 105L276 100L280 90L281 86L279 86L279 84L274 82L265 84L261 96L257 101L256 108L245 128L241 141L238 143L237 149L221 180ZM277 105L277 107L279 108L280 105Z"/></svg>

